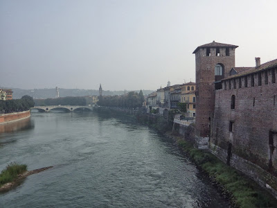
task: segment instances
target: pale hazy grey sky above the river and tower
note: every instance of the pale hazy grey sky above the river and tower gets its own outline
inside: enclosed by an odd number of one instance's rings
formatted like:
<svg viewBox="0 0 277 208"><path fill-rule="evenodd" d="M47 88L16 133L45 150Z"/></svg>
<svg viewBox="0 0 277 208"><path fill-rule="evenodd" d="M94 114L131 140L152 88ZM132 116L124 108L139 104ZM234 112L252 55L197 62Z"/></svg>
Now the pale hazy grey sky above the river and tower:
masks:
<svg viewBox="0 0 277 208"><path fill-rule="evenodd" d="M0 86L158 89L195 81L197 46L235 44L236 67L277 58L277 1L3 1Z"/></svg>

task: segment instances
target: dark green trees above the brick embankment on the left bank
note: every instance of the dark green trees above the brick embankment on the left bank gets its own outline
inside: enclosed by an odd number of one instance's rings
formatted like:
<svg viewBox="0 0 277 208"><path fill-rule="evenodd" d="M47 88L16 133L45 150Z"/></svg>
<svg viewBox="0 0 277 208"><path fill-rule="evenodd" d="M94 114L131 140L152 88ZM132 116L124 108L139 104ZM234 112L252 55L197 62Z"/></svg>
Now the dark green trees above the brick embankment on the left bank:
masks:
<svg viewBox="0 0 277 208"><path fill-rule="evenodd" d="M25 95L21 99L14 99L8 101L0 101L0 112L2 114L8 114L11 112L21 112L29 110L30 107L34 107L35 103L31 96Z"/></svg>

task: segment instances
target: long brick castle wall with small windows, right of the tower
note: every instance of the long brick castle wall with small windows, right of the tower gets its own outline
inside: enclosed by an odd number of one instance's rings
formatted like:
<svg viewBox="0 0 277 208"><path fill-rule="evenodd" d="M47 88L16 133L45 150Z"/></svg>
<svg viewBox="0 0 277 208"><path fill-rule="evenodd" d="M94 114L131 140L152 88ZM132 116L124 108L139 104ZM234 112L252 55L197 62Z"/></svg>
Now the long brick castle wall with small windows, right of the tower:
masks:
<svg viewBox="0 0 277 208"><path fill-rule="evenodd" d="M234 89L232 79L231 89L229 82L226 82L226 90L225 87L216 90L211 144L225 151L231 144L231 153L234 155L232 157L235 155L242 157L271 175L277 176L277 101L275 101L277 85L271 83L271 71L268 71L267 76L269 82L265 84L265 71L263 71L261 86L258 86L258 76L255 74L254 87L250 87L251 75L249 75L248 87L244 87L242 78L241 88L237 84ZM235 96L235 109L231 109L231 96ZM272 139L272 134L276 134L273 138L273 147L269 145L269 137Z"/></svg>

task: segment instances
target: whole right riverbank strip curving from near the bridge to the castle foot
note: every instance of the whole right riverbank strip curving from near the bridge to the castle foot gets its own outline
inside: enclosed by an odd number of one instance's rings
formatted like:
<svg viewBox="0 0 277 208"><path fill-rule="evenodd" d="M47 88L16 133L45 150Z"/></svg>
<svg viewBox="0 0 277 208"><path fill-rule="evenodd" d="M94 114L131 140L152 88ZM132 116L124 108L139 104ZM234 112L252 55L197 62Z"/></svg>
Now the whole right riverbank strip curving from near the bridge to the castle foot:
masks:
<svg viewBox="0 0 277 208"><path fill-rule="evenodd" d="M212 184L231 200L232 207L276 207L277 200L266 190L262 189L256 182L245 176L235 168L227 166L215 155L207 150L199 150L194 147L194 143L184 136L172 133L172 123L163 116L143 114L134 111L102 109L114 115L127 115L128 119L133 118L140 123L150 126L161 132L166 137L170 137L177 146L188 155L199 167L200 171L210 177ZM170 130L171 128L171 130ZM170 130L169 132L166 132Z"/></svg>

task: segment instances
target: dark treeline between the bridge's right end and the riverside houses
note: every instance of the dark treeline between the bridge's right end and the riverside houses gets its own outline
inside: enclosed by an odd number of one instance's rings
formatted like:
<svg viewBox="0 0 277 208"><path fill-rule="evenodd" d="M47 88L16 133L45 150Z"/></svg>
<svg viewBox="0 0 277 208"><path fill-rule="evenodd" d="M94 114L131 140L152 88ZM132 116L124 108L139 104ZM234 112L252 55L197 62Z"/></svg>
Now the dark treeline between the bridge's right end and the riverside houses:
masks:
<svg viewBox="0 0 277 208"><path fill-rule="evenodd" d="M122 96L100 96L98 105L109 107L127 107L136 108L143 105L143 92L129 92Z"/></svg>

